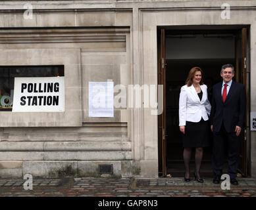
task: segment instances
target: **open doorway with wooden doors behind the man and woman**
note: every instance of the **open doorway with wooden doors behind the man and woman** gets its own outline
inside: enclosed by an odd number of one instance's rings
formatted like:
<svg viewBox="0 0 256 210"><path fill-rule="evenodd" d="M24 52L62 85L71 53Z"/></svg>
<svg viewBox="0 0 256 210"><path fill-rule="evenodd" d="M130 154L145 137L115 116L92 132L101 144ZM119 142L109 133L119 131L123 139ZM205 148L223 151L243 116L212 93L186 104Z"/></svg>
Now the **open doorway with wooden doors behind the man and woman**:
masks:
<svg viewBox="0 0 256 210"><path fill-rule="evenodd" d="M211 87L222 81L220 68L224 64L235 66L235 81L243 81L242 32L241 30L173 30L159 29L159 69L162 77L159 84L164 86L164 112L159 116L159 175L184 175L182 134L178 126L178 103L180 88L185 85L188 72L199 66L204 72L204 83L208 87L211 100ZM245 53L246 54L246 53ZM163 64L164 61L164 64ZM160 70L160 72L161 72ZM162 131L162 133L161 133ZM211 132L210 132L211 133ZM210 142L212 145L213 137ZM245 146L242 146L240 168L247 171ZM212 146L205 148L201 174L212 176ZM227 164L227 163L226 163ZM194 168L194 152L190 163ZM224 168L227 168L225 166ZM223 171L225 173L225 171ZM247 172L246 172L247 175Z"/></svg>

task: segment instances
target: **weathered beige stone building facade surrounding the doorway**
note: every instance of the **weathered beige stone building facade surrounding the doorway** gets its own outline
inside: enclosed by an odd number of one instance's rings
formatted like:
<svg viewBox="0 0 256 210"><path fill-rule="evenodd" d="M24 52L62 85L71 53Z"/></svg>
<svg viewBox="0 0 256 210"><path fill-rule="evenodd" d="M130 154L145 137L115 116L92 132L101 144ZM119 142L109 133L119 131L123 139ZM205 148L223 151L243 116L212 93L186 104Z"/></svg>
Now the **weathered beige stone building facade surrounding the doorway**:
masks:
<svg viewBox="0 0 256 210"><path fill-rule="evenodd" d="M224 3L230 18L221 18ZM63 65L65 79L64 112L0 112L0 176L99 176L99 165L112 164L118 177L158 177L155 108L127 106L115 108L114 117L89 117L89 81L111 79L127 90L157 86L159 29L244 27L246 161L248 175L256 175L256 133L249 125L256 112L255 0L2 1L0 11L0 66Z"/></svg>

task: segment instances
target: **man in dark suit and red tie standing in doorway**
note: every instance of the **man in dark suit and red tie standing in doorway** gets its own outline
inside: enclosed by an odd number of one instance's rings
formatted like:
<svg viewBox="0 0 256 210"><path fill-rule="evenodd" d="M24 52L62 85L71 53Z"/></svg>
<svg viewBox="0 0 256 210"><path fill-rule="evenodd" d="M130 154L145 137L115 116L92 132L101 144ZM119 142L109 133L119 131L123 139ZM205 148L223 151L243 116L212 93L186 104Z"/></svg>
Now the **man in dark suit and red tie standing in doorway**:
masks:
<svg viewBox="0 0 256 210"><path fill-rule="evenodd" d="M240 154L240 133L246 108L245 87L232 81L234 66L222 66L223 81L213 86L211 102L211 130L213 131L213 173L215 184L220 183L224 161L224 145L228 145L228 175L231 184L237 185L236 173Z"/></svg>

